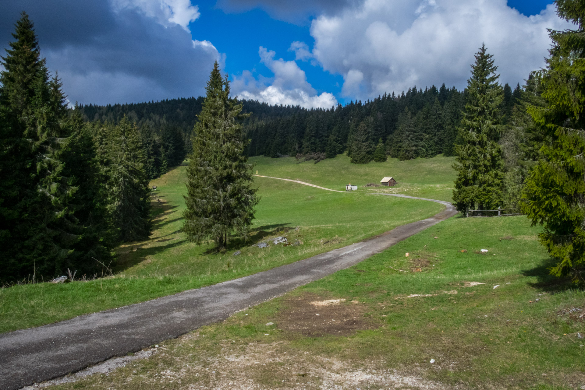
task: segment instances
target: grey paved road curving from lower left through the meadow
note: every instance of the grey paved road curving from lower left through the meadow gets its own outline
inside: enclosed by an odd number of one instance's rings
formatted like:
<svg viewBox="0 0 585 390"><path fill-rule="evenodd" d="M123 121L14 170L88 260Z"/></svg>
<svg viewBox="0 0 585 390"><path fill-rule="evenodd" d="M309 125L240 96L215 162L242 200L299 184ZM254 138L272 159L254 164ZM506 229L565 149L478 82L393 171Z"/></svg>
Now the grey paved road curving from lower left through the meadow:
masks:
<svg viewBox="0 0 585 390"><path fill-rule="evenodd" d="M221 321L238 310L359 263L457 213L449 202L424 200L441 203L446 209L431 218L398 226L369 240L269 271L51 325L1 334L0 389L18 389L61 377Z"/></svg>

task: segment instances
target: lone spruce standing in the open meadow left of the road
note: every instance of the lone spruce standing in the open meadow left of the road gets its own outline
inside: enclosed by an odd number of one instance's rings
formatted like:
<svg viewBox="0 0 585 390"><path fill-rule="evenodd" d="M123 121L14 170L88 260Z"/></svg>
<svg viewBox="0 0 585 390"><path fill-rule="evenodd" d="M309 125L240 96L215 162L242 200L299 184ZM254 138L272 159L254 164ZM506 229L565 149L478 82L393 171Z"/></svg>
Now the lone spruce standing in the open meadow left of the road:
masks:
<svg viewBox="0 0 585 390"><path fill-rule="evenodd" d="M229 97L228 77L221 77L217 62L206 91L187 167L183 232L191 242L211 238L225 250L230 234L247 237L259 198L252 188L253 165L243 155L242 105Z"/></svg>

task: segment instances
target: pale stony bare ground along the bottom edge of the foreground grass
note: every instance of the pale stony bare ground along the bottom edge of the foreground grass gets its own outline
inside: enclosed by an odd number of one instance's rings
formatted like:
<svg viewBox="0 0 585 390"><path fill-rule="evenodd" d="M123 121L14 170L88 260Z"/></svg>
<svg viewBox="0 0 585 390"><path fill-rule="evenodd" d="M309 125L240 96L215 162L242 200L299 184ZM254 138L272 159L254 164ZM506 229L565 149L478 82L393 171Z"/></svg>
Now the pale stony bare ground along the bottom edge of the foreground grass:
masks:
<svg viewBox="0 0 585 390"><path fill-rule="evenodd" d="M184 343L197 339L184 337ZM191 340L190 340L191 339ZM380 361L342 361L336 358L299 353L285 341L249 343L223 340L221 352L194 358L180 358L176 367L150 374L150 384L181 384L182 389L446 389L437 382L380 368ZM185 361L183 361L185 360ZM188 363L187 363L188 362ZM171 388L171 386L169 386Z"/></svg>

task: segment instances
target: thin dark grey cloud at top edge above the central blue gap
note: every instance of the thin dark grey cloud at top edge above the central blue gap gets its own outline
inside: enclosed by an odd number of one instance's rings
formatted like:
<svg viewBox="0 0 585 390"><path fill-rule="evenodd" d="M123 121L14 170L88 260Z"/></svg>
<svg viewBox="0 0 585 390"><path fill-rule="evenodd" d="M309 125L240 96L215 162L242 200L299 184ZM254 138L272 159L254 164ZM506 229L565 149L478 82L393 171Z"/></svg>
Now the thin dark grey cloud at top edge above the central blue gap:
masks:
<svg viewBox="0 0 585 390"><path fill-rule="evenodd" d="M218 0L216 6L225 12L245 12L260 8L275 19L302 24L307 23L311 16L335 15L348 5L362 2L363 0Z"/></svg>

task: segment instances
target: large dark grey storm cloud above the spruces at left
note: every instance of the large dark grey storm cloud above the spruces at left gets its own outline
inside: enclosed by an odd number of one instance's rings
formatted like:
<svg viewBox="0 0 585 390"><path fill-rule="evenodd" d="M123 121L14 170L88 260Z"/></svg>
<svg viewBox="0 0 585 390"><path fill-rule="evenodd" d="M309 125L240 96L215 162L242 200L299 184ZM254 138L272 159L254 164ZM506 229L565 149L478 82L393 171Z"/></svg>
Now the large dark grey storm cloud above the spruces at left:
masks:
<svg viewBox="0 0 585 390"><path fill-rule="evenodd" d="M59 71L72 102L197 96L204 92L209 70L219 57L211 43L193 41L182 26L163 26L140 9L119 7L115 12L111 2L91 0L2 2L4 47L12 40L20 11L29 13L35 23L42 56L50 70Z"/></svg>

